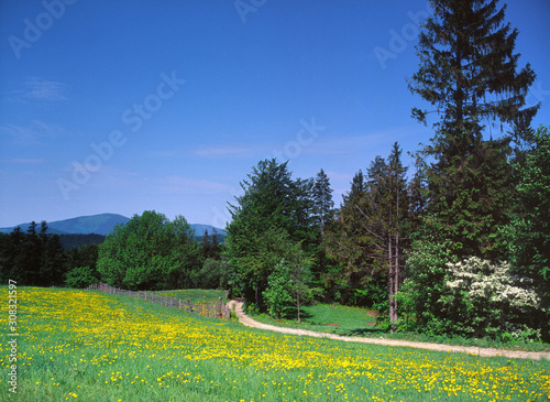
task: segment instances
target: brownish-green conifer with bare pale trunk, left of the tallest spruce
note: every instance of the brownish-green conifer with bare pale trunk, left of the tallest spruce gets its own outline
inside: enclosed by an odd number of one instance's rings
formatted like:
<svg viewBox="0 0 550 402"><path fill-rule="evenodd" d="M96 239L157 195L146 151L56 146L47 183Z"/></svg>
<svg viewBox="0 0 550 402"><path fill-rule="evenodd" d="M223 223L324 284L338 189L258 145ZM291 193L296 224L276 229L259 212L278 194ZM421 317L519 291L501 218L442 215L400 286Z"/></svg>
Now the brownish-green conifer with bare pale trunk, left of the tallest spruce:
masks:
<svg viewBox="0 0 550 402"><path fill-rule="evenodd" d="M396 294L403 281L409 216L407 169L394 143L386 160L376 156L355 175L339 217L328 233L328 251L342 265L355 300L398 317Z"/></svg>

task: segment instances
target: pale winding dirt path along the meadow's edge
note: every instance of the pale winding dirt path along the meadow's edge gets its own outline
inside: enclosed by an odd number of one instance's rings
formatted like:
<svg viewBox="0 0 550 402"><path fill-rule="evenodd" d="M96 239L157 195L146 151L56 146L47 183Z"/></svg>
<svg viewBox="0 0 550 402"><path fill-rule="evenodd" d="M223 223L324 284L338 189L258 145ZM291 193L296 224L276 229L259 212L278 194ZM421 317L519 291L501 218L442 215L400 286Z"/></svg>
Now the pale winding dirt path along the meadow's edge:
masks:
<svg viewBox="0 0 550 402"><path fill-rule="evenodd" d="M312 336L317 338L329 338L344 341L354 341L362 344L375 344L375 345L386 345L386 346L405 346L411 348L420 348L420 349L430 349L430 350L439 350L439 351L452 351L452 352L463 352L463 354L472 354L475 356L482 357L494 357L494 356L504 356L513 359L534 359L540 360L541 358L550 360L550 352L538 352L538 351L520 351L520 350L502 350L502 349L493 349L493 348L479 348L479 347L464 347L464 346L453 346L453 345L441 345L441 344L428 344L428 343L416 343L408 340L398 340L398 339L384 339L384 338L362 338L362 337L350 337L342 336L336 334L324 334L324 333L316 333L312 330L297 329L297 328L285 328L277 327L275 325L268 325L258 323L251 317L249 317L243 312L243 302L232 300L228 303L229 308L234 311L237 316L239 317L239 322L248 327L254 327L260 329L274 330L276 333L283 334L292 334L292 335L306 335Z"/></svg>

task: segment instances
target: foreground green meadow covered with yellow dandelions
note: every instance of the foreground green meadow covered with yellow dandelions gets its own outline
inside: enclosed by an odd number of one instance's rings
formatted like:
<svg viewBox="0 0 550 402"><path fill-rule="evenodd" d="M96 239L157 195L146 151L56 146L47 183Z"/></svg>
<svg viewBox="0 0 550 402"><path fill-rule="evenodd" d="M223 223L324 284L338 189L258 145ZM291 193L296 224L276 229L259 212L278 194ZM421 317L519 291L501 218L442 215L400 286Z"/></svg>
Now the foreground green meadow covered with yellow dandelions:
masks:
<svg viewBox="0 0 550 402"><path fill-rule="evenodd" d="M7 289L0 290L7 300ZM286 336L129 296L18 289L1 401L542 401L550 362ZM7 328L8 313L0 316ZM4 330L4 334L7 332Z"/></svg>

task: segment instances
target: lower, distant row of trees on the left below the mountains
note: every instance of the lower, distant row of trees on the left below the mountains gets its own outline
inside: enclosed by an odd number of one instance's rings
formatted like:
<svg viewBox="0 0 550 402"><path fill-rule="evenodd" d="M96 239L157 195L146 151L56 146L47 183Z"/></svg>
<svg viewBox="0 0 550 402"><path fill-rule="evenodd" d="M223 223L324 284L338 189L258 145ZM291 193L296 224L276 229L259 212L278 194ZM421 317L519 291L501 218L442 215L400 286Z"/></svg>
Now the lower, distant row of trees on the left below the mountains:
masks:
<svg viewBox="0 0 550 402"><path fill-rule="evenodd" d="M46 221L40 230L32 222L26 231L0 233L0 280L31 286L87 287L103 280L132 290L227 289L222 240L216 229L197 237L183 217L170 222L155 211L135 215L108 237L52 235Z"/></svg>

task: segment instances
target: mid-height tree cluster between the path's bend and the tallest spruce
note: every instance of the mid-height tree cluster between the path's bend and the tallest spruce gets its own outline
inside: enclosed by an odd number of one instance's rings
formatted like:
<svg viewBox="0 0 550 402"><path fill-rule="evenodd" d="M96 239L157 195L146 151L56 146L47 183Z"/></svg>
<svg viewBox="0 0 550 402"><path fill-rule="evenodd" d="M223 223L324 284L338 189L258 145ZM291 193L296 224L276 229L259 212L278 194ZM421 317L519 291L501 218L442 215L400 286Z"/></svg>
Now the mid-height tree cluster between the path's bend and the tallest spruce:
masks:
<svg viewBox="0 0 550 402"><path fill-rule="evenodd" d="M287 163L261 161L230 205L222 256L232 292L275 316L297 315L315 300L396 314L421 203L418 181L406 173L395 143L387 159L355 174L334 208L322 169L293 178Z"/></svg>

